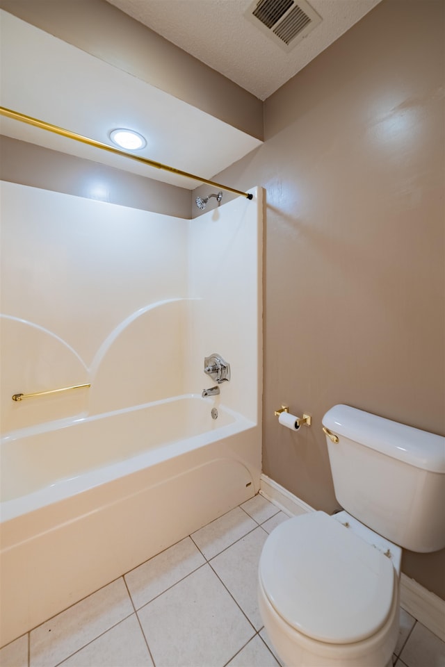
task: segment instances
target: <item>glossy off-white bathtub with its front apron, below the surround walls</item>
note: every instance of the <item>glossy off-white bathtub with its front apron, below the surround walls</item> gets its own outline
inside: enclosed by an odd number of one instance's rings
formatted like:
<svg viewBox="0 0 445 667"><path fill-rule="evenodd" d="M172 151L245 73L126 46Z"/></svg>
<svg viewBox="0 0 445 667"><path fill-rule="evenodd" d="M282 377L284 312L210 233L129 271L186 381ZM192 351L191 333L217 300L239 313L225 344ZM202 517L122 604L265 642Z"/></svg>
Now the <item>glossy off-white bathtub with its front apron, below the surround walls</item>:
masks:
<svg viewBox="0 0 445 667"><path fill-rule="evenodd" d="M0 645L257 493L260 427L219 400L183 395L2 439Z"/></svg>

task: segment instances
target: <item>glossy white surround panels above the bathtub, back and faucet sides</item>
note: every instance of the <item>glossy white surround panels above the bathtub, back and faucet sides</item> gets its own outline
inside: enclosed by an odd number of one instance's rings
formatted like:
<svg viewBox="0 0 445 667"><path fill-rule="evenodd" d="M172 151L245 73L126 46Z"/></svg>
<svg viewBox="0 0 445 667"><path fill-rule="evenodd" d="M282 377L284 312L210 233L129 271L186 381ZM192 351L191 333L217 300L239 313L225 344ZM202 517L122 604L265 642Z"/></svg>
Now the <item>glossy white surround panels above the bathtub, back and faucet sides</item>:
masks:
<svg viewBox="0 0 445 667"><path fill-rule="evenodd" d="M211 352L223 402L257 419L256 201L187 221L3 182L1 218L3 432L200 393Z"/></svg>

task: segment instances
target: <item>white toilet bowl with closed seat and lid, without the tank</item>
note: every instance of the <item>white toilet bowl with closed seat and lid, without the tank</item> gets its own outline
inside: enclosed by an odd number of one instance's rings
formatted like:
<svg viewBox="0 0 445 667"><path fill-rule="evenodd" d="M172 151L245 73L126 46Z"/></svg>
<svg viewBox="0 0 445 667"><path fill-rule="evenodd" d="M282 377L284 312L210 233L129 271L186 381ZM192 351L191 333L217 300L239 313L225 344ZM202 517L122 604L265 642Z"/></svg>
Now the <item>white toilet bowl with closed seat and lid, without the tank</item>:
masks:
<svg viewBox="0 0 445 667"><path fill-rule="evenodd" d="M314 512L268 537L259 562L259 609L284 665L391 664L401 550L364 526L357 535L358 524L346 512Z"/></svg>

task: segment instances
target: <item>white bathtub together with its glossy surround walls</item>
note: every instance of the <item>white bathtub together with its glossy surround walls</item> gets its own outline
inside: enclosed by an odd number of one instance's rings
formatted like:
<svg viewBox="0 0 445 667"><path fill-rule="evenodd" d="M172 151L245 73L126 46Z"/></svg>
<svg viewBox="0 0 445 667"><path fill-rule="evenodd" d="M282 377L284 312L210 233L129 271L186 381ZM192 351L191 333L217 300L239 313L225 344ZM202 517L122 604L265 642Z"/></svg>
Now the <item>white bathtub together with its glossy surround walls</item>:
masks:
<svg viewBox="0 0 445 667"><path fill-rule="evenodd" d="M196 224L1 189L3 645L257 493L262 195Z"/></svg>

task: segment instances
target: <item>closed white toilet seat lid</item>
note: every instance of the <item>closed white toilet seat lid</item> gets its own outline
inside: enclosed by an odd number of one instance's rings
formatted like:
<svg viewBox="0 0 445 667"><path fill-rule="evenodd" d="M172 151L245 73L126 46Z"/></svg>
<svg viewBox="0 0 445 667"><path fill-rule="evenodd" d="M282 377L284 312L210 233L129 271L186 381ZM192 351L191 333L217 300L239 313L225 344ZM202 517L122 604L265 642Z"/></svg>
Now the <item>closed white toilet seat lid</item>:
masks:
<svg viewBox="0 0 445 667"><path fill-rule="evenodd" d="M331 644L378 632L397 591L391 561L324 512L279 525L264 545L259 577L288 625Z"/></svg>

